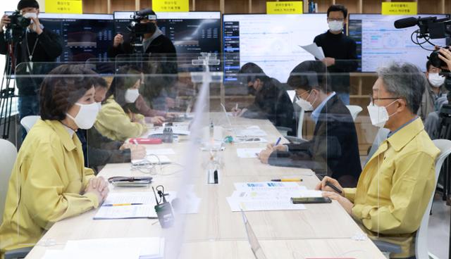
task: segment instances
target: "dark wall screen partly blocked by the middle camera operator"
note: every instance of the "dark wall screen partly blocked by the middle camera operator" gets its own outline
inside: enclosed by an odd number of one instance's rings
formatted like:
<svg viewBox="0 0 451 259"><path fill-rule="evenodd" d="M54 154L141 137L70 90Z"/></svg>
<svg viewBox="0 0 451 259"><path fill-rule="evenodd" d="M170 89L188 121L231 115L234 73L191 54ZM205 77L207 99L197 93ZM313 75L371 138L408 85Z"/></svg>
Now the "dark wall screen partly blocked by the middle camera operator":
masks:
<svg viewBox="0 0 451 259"><path fill-rule="evenodd" d="M133 12L114 12L116 33L130 40L127 25ZM171 39L178 54L221 51L221 13L157 13L157 24L161 32Z"/></svg>

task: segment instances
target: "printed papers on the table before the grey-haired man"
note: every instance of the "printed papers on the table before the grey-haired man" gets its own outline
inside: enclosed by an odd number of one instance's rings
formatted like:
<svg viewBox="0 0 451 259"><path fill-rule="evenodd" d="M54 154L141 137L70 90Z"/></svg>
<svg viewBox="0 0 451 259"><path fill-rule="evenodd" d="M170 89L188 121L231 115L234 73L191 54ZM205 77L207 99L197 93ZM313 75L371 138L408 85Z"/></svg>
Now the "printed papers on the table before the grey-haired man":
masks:
<svg viewBox="0 0 451 259"><path fill-rule="evenodd" d="M232 211L304 210L292 197L321 197L321 191L307 190L296 182L238 182L227 197Z"/></svg>

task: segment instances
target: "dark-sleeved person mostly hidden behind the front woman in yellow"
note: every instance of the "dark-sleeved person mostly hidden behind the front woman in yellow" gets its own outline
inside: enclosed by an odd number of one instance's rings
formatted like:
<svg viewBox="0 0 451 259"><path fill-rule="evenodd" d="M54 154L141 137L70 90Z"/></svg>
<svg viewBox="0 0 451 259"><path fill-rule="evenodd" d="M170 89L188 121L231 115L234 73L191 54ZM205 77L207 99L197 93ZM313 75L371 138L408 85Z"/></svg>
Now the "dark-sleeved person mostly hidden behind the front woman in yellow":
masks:
<svg viewBox="0 0 451 259"><path fill-rule="evenodd" d="M92 72L94 80L94 101L99 105L104 101L108 84L103 77ZM99 167L107 163L130 163L133 159L142 159L146 156L146 148L142 145L114 141L102 136L95 127L89 130L78 130L77 136L82 143L85 167L99 172Z"/></svg>

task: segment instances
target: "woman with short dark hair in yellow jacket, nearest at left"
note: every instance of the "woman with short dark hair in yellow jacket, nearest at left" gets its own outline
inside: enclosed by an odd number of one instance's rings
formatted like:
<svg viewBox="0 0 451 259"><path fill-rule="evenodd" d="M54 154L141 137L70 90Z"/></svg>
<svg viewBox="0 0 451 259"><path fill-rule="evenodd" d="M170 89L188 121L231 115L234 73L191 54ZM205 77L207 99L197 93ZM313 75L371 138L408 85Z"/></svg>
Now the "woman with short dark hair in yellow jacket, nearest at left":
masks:
<svg viewBox="0 0 451 259"><path fill-rule="evenodd" d="M54 222L97 208L109 191L103 178L84 167L75 134L94 124L99 106L92 77L97 75L76 65L61 65L49 75L40 92L41 120L27 134L8 184L1 258L37 244Z"/></svg>

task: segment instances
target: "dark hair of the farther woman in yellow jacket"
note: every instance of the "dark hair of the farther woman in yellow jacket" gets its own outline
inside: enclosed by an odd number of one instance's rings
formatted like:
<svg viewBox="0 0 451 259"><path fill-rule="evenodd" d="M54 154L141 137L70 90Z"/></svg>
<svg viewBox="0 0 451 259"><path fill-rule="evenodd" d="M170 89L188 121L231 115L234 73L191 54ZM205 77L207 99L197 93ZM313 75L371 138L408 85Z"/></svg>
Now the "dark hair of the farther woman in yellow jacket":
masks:
<svg viewBox="0 0 451 259"><path fill-rule="evenodd" d="M105 100L114 96L114 100L120 106L125 106L125 91L135 85L141 79L142 70L135 65L123 65L116 70L116 75L111 82L110 89L106 92Z"/></svg>

